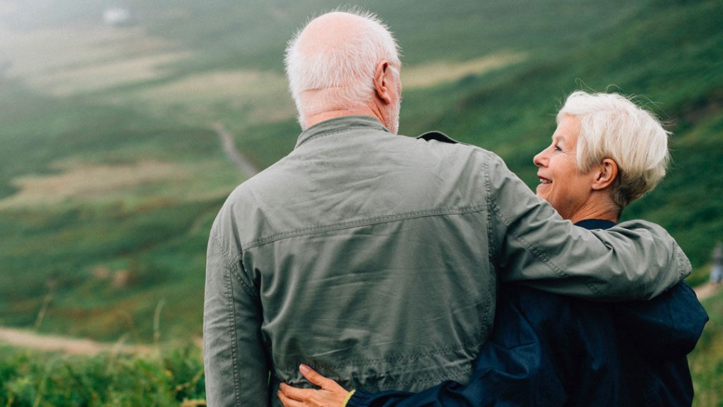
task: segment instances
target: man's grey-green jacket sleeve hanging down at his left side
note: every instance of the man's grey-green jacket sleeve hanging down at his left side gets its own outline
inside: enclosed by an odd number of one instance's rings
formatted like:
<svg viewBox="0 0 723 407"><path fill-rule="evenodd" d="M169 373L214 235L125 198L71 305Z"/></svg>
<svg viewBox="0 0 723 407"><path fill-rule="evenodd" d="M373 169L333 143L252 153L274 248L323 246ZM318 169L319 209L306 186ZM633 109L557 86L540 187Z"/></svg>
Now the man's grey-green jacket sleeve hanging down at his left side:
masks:
<svg viewBox="0 0 723 407"><path fill-rule="evenodd" d="M212 231L203 309L208 406L268 406L269 365L261 337L260 300L240 259L228 259L222 247Z"/></svg>

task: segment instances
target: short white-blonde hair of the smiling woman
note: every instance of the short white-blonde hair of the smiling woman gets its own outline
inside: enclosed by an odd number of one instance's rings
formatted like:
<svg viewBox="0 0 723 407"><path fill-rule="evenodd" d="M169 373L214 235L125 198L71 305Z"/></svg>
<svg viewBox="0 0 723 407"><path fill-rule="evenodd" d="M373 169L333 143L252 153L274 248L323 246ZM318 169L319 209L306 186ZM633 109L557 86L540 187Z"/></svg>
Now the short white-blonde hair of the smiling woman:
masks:
<svg viewBox="0 0 723 407"><path fill-rule="evenodd" d="M669 161L668 135L660 121L630 98L617 93L576 91L557 113L557 122L569 115L580 121L578 171L603 159L617 164L612 198L620 211L655 188Z"/></svg>

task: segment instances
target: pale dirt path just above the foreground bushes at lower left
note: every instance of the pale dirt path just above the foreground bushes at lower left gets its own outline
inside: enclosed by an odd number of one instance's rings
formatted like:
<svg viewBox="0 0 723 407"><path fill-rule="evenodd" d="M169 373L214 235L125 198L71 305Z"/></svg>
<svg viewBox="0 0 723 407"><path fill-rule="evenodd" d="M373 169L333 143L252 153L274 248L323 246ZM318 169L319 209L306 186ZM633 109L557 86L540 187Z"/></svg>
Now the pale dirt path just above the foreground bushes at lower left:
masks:
<svg viewBox="0 0 723 407"><path fill-rule="evenodd" d="M111 353L142 353L153 351L148 345L124 345L123 343L102 343L95 340L56 335L39 335L32 331L0 327L0 343L20 348L35 348L43 351L62 351L74 355L95 355L103 351Z"/></svg>

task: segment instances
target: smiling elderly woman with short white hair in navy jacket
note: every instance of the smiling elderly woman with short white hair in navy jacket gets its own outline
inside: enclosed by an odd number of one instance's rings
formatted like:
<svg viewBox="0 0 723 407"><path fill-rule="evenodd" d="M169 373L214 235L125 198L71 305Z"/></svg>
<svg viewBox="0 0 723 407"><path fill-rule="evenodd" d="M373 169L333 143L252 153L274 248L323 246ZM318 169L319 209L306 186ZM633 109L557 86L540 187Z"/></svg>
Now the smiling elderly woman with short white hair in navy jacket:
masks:
<svg viewBox="0 0 723 407"><path fill-rule="evenodd" d="M579 227L607 229L665 175L667 132L627 98L575 92L534 157L537 196ZM641 259L645 267L645 259ZM348 392L302 365L319 390L282 385L297 406L690 406L686 355L708 317L685 282L651 301L591 303L502 285L495 330L466 385Z"/></svg>

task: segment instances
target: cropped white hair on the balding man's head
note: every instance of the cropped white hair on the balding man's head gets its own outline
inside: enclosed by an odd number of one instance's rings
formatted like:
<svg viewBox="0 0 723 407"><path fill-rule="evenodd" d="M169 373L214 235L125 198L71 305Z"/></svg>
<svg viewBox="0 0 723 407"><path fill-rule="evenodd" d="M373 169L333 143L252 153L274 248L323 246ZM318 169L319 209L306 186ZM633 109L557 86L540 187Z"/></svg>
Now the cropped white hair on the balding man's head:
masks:
<svg viewBox="0 0 723 407"><path fill-rule="evenodd" d="M301 127L306 127L308 114L366 104L372 98L374 73L382 60L401 66L397 42L375 14L360 9L344 13L359 17L360 22L348 41L311 50L299 46L309 22L286 47L286 76Z"/></svg>

